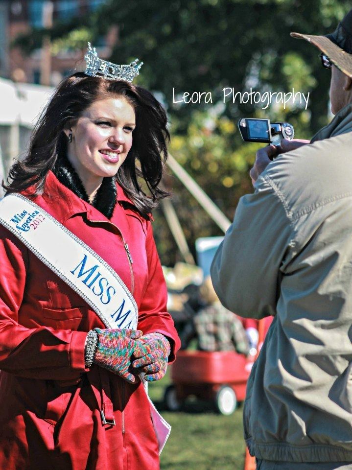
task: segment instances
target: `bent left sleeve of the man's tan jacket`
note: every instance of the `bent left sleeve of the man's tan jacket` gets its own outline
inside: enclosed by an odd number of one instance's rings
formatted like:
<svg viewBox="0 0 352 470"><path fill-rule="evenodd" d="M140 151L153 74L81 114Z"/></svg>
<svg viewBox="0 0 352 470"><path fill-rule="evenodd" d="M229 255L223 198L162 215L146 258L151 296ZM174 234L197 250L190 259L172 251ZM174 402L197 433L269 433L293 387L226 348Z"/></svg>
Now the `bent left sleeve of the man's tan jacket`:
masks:
<svg viewBox="0 0 352 470"><path fill-rule="evenodd" d="M259 177L243 196L211 265L221 303L243 317L275 315L282 266L292 255L293 228L285 201L270 178Z"/></svg>

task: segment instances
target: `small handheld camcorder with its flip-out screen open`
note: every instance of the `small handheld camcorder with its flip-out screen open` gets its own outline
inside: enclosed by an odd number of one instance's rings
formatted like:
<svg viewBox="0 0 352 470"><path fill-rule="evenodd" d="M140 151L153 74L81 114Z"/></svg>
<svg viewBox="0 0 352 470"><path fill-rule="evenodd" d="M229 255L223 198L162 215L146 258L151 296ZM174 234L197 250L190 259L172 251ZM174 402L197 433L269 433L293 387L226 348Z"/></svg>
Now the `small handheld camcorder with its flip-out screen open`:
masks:
<svg viewBox="0 0 352 470"><path fill-rule="evenodd" d="M247 119L238 121L238 129L246 142L265 142L280 145L282 139L292 140L293 126L288 122L270 122L270 119Z"/></svg>

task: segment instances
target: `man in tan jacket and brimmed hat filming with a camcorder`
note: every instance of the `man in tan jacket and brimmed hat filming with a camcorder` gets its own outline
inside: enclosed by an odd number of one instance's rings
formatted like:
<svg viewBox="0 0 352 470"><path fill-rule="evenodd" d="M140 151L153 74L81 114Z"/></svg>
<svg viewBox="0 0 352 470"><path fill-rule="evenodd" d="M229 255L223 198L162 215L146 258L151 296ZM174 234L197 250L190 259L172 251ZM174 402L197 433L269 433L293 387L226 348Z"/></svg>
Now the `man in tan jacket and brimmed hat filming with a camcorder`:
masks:
<svg viewBox="0 0 352 470"><path fill-rule="evenodd" d="M244 434L260 470L352 469L352 10L319 47L332 122L257 153L211 267L223 305L274 320L253 366ZM287 152L287 150L289 150Z"/></svg>

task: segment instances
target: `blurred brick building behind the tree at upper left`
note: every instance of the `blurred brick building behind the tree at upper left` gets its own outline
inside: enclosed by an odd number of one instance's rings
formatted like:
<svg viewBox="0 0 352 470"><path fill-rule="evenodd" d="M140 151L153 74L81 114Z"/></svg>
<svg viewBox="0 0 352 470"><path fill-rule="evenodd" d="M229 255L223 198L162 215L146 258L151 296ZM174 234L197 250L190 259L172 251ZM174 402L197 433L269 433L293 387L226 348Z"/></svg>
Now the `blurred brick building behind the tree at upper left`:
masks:
<svg viewBox="0 0 352 470"><path fill-rule="evenodd" d="M0 75L18 82L56 86L62 78L70 75L82 59L81 50L61 50L55 55L47 53L49 44L35 49L29 56L11 43L20 34L32 28L50 28L55 23L65 24L94 12L104 0L15 0L0 2ZM111 55L116 41L117 29L109 27L95 46L99 55Z"/></svg>

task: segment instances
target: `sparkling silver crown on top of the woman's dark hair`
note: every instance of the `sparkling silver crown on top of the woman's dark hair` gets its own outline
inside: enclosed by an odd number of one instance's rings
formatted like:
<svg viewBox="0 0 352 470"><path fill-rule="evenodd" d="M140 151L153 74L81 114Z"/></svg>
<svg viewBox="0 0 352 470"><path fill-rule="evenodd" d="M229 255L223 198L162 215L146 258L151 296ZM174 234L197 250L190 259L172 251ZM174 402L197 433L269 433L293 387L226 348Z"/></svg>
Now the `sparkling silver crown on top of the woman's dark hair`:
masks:
<svg viewBox="0 0 352 470"><path fill-rule="evenodd" d="M84 56L86 61L86 70L84 73L91 77L101 77L106 80L125 80L132 83L132 80L140 74L139 70L143 65L141 62L137 65L138 59L135 59L129 65L117 65L106 60L99 59L95 47L88 43L87 54Z"/></svg>

